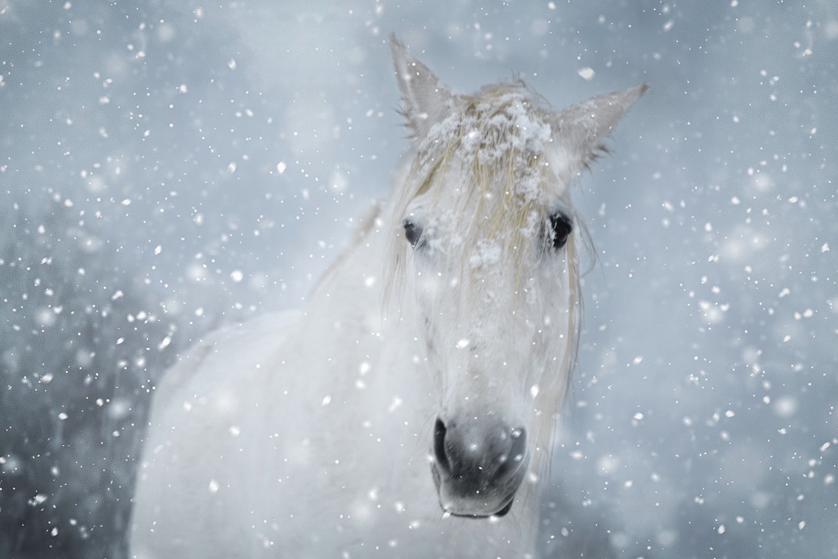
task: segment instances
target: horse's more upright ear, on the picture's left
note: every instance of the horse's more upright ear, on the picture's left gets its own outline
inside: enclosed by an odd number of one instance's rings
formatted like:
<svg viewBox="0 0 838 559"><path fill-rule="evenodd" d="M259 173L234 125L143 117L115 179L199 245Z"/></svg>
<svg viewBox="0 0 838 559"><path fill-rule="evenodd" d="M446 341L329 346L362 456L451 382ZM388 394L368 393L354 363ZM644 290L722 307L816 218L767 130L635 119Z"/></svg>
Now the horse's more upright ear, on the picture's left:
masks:
<svg viewBox="0 0 838 559"><path fill-rule="evenodd" d="M396 81L401 91L401 114L414 138L423 138L437 122L448 114L454 96L443 86L426 65L407 52L405 45L390 35Z"/></svg>

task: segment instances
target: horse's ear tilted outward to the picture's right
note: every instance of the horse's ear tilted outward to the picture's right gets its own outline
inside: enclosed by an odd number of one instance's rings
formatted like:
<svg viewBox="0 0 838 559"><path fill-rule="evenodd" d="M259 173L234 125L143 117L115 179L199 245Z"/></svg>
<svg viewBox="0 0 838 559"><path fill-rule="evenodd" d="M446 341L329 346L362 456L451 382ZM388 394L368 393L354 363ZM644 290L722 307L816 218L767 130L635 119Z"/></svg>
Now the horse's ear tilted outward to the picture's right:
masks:
<svg viewBox="0 0 838 559"><path fill-rule="evenodd" d="M567 158L560 163L561 172L568 173L568 179L573 173L586 168L597 153L607 151L605 141L611 129L647 89L648 84L640 84L595 96L553 116L553 137Z"/></svg>

